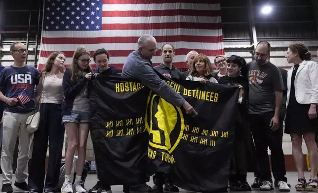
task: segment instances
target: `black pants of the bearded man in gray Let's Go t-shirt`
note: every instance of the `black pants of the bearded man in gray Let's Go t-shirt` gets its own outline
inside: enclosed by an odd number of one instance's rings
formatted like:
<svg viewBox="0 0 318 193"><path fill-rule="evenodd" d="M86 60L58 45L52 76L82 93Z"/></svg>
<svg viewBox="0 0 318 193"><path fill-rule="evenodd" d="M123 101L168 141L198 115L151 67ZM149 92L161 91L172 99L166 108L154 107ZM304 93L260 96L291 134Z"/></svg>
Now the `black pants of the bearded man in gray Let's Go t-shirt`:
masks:
<svg viewBox="0 0 318 193"><path fill-rule="evenodd" d="M250 126L255 143L257 176L261 180L273 182L270 171L267 148L271 150L272 171L275 180L287 182L285 158L282 151L282 123L279 129L272 130L270 126L271 119L274 117L274 111L253 115L250 114Z"/></svg>

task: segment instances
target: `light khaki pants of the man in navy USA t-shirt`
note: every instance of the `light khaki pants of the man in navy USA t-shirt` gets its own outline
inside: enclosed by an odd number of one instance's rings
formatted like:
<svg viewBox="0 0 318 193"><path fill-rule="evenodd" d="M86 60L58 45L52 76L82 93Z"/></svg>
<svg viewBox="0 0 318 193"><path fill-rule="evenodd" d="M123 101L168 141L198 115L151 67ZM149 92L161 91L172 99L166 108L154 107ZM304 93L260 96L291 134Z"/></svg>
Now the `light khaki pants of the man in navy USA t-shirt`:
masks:
<svg viewBox="0 0 318 193"><path fill-rule="evenodd" d="M16 182L24 182L28 177L28 162L30 142L33 133L27 132L25 124L31 113L3 112L3 135L1 151L2 184L12 183L13 151L17 136L19 136L19 153L15 171Z"/></svg>

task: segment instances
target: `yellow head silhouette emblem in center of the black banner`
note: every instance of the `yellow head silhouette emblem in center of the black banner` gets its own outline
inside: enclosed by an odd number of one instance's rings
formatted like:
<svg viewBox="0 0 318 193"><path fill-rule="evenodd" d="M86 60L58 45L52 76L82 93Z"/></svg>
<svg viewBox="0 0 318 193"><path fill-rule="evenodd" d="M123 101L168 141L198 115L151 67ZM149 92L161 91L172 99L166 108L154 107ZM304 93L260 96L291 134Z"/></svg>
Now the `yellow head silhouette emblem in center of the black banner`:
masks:
<svg viewBox="0 0 318 193"><path fill-rule="evenodd" d="M154 100L158 105L154 105ZM184 117L179 107L170 104L163 98L150 93L147 103L145 125L150 134L149 145L172 153L179 144L184 130ZM178 133L172 139L171 132Z"/></svg>

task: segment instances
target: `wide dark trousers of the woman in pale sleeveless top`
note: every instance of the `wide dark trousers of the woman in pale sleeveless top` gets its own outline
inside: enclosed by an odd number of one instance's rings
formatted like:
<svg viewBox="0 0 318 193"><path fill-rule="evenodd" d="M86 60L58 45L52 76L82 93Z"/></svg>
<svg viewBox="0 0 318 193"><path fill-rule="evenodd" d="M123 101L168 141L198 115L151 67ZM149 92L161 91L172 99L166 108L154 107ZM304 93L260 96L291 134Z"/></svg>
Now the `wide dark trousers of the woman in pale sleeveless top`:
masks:
<svg viewBox="0 0 318 193"><path fill-rule="evenodd" d="M40 106L40 126L34 133L28 181L30 189L35 189L36 192L43 191L47 140L49 140L49 158L44 189L55 192L58 186L65 130L61 123L61 104L42 103Z"/></svg>

